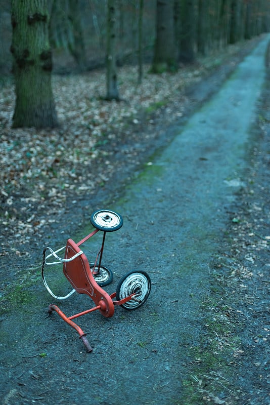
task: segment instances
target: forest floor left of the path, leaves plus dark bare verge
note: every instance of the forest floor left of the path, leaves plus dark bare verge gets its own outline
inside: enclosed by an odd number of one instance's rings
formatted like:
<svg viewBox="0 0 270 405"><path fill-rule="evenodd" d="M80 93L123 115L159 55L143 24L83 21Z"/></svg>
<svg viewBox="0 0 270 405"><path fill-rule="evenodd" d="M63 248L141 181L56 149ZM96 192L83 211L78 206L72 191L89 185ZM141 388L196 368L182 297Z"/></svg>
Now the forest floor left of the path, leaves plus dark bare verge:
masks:
<svg viewBox="0 0 270 405"><path fill-rule="evenodd" d="M29 255L58 224L65 210L96 206L96 195L106 195L140 170L151 154L164 147L173 133L171 123L184 125L192 113L233 71L257 38L196 65L182 66L175 74L145 75L137 83L135 67L119 71L123 101L107 102L105 72L55 75L53 92L59 128L12 129L15 93L12 78L5 77L0 94L1 207L0 255ZM198 86L200 84L200 86ZM116 186L116 187L115 187ZM85 194L91 201L84 207ZM101 198L100 196L98 197ZM48 224L50 224L48 226ZM33 238L34 236L34 238Z"/></svg>

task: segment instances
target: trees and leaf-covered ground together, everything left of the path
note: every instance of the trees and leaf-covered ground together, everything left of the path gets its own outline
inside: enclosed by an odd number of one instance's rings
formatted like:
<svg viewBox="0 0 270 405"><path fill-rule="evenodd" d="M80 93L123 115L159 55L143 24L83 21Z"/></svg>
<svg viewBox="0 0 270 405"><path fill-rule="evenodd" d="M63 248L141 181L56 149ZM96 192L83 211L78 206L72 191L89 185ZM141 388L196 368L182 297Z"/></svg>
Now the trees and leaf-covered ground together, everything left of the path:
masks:
<svg viewBox="0 0 270 405"><path fill-rule="evenodd" d="M2 0L3 229L30 237L139 165L186 89L269 30L269 0Z"/></svg>

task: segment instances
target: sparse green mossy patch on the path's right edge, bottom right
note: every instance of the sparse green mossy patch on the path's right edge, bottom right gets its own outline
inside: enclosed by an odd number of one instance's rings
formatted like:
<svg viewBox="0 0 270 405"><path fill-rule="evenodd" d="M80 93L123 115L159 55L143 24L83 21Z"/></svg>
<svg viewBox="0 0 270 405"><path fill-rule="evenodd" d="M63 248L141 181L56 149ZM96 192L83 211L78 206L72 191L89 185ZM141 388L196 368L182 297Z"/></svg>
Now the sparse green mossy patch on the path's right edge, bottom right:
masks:
<svg viewBox="0 0 270 405"><path fill-rule="evenodd" d="M233 325L226 317L228 305L219 304L213 295L202 305L207 314L204 319L205 332L198 345L190 348L192 371L182 381L183 405L208 403L213 395L218 397L224 389L233 392L230 375L234 370L230 366L230 358L241 341L233 334Z"/></svg>

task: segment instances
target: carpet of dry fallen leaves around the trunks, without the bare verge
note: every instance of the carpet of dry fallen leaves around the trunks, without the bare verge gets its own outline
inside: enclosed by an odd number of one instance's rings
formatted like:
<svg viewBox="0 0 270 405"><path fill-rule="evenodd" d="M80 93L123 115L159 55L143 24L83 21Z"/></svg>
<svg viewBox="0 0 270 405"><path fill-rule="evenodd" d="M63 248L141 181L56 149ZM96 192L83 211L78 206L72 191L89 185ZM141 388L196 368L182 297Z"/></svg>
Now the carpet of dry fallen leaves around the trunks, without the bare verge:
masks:
<svg viewBox="0 0 270 405"><path fill-rule="evenodd" d="M196 83L204 72L205 66L201 64L196 71L187 67L174 75L146 73L138 86L136 67L123 67L119 72L123 101L110 103L102 98L106 88L104 70L55 75L53 91L60 127L48 130L12 129L14 85L11 80L3 84L0 224L4 233L9 232L15 238L33 234L42 226L44 218L51 215L52 206L61 211L70 195L76 200L76 196L102 187L116 170L111 161L117 153L117 137L121 134L127 139L133 127L139 131L139 138L144 137L142 119L146 120L146 127L147 123L152 125L153 114L159 108L166 109L167 103L177 100L179 104L183 97L181 91ZM147 113L148 109L151 114ZM181 113L179 109L181 102L177 114ZM168 113L172 113L169 108ZM139 158L139 149L127 149L123 153ZM93 170L93 163L101 159L102 166L96 164Z"/></svg>

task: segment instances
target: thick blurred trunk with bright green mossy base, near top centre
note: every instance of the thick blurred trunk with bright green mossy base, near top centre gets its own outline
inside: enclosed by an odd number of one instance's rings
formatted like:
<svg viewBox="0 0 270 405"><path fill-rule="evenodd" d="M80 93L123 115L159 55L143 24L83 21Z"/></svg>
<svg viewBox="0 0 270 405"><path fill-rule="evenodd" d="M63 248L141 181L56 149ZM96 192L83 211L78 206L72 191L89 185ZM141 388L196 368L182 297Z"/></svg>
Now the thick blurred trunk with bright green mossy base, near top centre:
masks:
<svg viewBox="0 0 270 405"><path fill-rule="evenodd" d="M157 0L156 42L153 73L175 71L175 37L174 37L174 2L173 0Z"/></svg>

